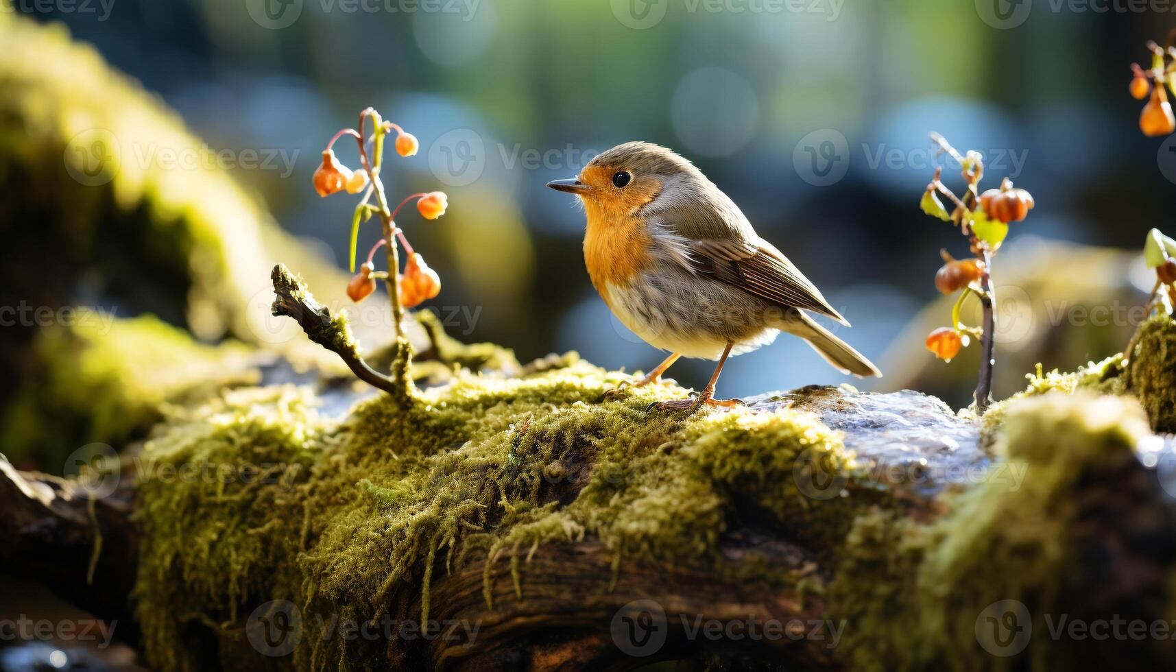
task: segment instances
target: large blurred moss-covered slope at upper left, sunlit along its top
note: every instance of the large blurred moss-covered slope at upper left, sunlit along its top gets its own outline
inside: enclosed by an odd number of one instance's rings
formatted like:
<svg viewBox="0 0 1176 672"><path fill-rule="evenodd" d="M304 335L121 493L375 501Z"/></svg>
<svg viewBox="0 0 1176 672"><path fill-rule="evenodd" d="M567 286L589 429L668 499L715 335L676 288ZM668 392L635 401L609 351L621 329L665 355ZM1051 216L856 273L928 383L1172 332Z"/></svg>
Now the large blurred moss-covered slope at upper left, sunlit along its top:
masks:
<svg viewBox="0 0 1176 672"><path fill-rule="evenodd" d="M289 339L256 298L278 260L328 305L347 305L346 273L282 232L203 160L219 148L93 47L4 9L0 42L0 232L21 241L0 266L0 293L71 305L98 278L128 313L272 346Z"/></svg>

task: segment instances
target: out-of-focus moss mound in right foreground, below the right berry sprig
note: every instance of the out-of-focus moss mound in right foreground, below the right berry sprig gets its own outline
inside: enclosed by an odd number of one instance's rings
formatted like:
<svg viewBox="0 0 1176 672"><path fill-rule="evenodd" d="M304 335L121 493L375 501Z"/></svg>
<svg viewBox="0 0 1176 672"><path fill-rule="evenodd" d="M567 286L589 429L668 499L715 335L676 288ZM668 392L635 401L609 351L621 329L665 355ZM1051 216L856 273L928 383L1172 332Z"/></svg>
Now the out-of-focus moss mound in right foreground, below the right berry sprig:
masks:
<svg viewBox="0 0 1176 672"><path fill-rule="evenodd" d="M997 434L1004 459L935 523L888 511L860 517L829 590L830 611L848 619L854 668L1022 668L1023 658L981 648L977 620L1000 600L1027 605L1035 633L1048 632L1044 614L1067 613L1064 586L1081 563L1076 492L1134 459L1149 434L1134 400L1088 392L1020 399ZM1029 666L1056 668L1064 643L1034 643Z"/></svg>

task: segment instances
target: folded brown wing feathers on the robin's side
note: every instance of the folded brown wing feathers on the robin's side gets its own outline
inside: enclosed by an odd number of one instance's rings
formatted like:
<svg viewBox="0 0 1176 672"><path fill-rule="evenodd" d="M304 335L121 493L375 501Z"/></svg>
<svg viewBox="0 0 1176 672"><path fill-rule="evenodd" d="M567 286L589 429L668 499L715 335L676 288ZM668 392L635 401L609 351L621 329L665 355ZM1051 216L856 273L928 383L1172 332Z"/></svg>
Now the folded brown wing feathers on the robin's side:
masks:
<svg viewBox="0 0 1176 672"><path fill-rule="evenodd" d="M781 306L813 311L849 326L791 261L764 240L706 239L689 242L690 261L699 273Z"/></svg>

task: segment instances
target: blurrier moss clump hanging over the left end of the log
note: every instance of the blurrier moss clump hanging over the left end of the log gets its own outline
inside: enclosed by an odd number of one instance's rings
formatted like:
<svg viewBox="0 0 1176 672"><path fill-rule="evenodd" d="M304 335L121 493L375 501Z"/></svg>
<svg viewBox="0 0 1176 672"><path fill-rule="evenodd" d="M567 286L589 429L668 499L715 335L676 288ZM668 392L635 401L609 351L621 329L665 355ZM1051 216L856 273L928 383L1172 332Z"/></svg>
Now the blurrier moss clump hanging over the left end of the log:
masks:
<svg viewBox="0 0 1176 672"><path fill-rule="evenodd" d="M312 513L296 486L321 455L321 431L306 393L248 388L175 411L143 452L134 598L158 668L207 668L195 626L243 643L238 607L295 580Z"/></svg>

